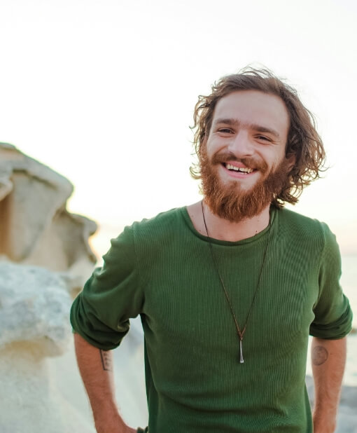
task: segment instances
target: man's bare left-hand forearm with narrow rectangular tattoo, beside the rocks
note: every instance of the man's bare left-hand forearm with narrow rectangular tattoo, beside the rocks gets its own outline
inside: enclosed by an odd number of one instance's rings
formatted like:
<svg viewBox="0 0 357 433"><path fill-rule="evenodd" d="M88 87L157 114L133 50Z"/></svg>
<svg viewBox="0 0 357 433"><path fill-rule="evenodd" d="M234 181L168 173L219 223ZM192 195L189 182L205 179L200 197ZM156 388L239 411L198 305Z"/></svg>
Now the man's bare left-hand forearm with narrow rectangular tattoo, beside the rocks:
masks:
<svg viewBox="0 0 357 433"><path fill-rule="evenodd" d="M113 354L87 343L74 334L74 345L80 376L90 399L98 433L136 433L118 413L113 380Z"/></svg>

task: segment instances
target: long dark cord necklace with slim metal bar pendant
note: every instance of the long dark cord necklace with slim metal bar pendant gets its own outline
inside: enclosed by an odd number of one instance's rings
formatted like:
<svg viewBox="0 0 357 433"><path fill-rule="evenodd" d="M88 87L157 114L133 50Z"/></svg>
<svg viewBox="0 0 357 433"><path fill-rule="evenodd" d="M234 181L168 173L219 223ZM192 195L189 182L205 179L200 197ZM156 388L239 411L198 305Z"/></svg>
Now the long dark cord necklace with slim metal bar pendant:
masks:
<svg viewBox="0 0 357 433"><path fill-rule="evenodd" d="M247 325L248 319L249 319L249 317L251 315L251 310L253 309L254 301L255 301L255 298L256 298L256 296L258 294L258 289L260 287L260 280L262 278L262 269L264 268L265 259L266 259L266 256L267 256L267 249L269 247L270 236L272 235L272 231L271 231L271 228L270 228L270 233L269 233L269 237L268 237L268 240L267 240L267 246L265 247L264 257L262 259L262 266L260 268L260 273L259 273L259 278L258 278L258 284L257 284L257 287L255 289L255 293L254 293L254 296L253 296L253 301L251 301L251 306L249 307L248 314L246 315L246 320L244 322L244 327L241 330L239 328L238 320L237 320L237 317L235 315L235 310L233 310L233 307L232 307L232 302L230 301L230 296L228 296L228 290L226 289L225 283L223 282L222 275L221 275L221 273L218 270L218 261L217 261L217 258L215 256L215 254L214 254L214 248L212 247L211 238L209 237L209 233L208 233L208 229L207 229L207 224L206 224L206 219L204 218L203 200L201 201L201 207L202 207L202 217L203 217L203 222L204 222L204 228L206 229L207 239L209 241L209 249L211 251L212 261L214 262L214 267L216 268L216 273L218 274L218 277L219 277L219 280L221 282L221 286L222 286L223 292L225 294L225 298L227 299L228 305L230 307L230 312L232 313L233 320L235 321L235 327L237 329L237 334L239 336L239 362L240 362L240 364L243 364L244 363L244 359L243 359L243 338L244 338L244 334L246 333L246 325ZM270 220L269 220L269 226L270 226Z"/></svg>

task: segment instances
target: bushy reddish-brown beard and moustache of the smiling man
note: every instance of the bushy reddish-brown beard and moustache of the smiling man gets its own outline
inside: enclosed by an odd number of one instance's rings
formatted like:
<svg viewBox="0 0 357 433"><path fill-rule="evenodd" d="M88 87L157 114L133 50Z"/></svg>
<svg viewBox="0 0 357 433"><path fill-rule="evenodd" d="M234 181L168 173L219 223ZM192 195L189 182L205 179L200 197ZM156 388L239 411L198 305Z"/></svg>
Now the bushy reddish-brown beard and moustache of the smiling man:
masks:
<svg viewBox="0 0 357 433"><path fill-rule="evenodd" d="M247 191L242 191L239 181L232 180L224 184L219 178L218 165L229 160L237 160L237 158L232 153L220 153L210 160L206 149L201 150L202 192L211 212L232 223L237 223L260 214L281 192L288 177L288 163L284 159L275 170L268 171L265 161L241 158L241 163L246 167L254 167L262 174L255 185Z"/></svg>

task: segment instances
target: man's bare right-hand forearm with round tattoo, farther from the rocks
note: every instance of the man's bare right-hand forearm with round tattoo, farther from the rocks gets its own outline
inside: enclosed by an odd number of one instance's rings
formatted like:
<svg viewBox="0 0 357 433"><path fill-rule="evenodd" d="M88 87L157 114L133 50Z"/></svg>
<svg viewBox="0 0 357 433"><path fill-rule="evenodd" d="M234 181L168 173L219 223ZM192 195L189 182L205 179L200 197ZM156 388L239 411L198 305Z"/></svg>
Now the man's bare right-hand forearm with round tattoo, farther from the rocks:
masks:
<svg viewBox="0 0 357 433"><path fill-rule="evenodd" d="M313 338L311 364L315 385L315 433L335 432L345 362L346 337L339 340Z"/></svg>

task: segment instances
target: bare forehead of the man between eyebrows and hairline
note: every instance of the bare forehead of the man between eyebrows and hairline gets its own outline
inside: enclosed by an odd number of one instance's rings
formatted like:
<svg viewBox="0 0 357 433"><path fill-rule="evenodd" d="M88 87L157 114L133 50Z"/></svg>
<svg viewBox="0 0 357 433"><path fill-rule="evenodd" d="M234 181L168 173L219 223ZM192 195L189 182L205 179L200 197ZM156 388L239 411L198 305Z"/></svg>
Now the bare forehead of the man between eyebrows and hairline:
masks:
<svg viewBox="0 0 357 433"><path fill-rule="evenodd" d="M221 118L274 128L286 136L290 125L288 110L283 100L259 90L238 90L221 98L214 110L213 123Z"/></svg>

